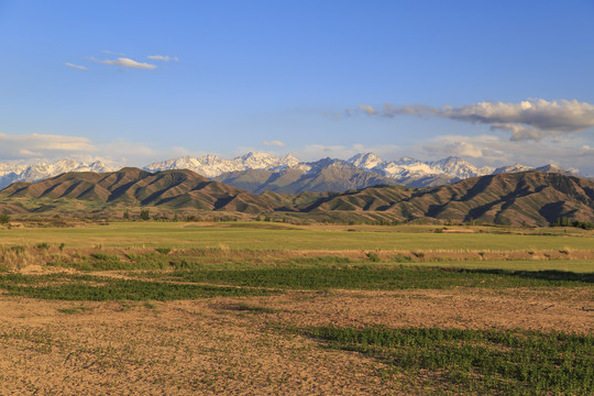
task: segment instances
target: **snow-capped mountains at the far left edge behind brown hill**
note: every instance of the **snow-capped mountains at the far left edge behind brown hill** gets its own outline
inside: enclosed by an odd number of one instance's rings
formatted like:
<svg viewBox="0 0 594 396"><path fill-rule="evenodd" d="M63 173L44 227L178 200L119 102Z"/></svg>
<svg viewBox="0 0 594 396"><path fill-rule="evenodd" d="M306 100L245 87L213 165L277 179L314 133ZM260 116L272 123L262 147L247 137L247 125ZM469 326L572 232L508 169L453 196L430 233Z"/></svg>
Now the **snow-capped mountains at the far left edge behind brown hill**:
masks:
<svg viewBox="0 0 594 396"><path fill-rule="evenodd" d="M112 167L101 161L94 163L75 160L58 160L53 163L38 162L31 165L0 164L0 188L14 182L37 182L66 172L111 172Z"/></svg>

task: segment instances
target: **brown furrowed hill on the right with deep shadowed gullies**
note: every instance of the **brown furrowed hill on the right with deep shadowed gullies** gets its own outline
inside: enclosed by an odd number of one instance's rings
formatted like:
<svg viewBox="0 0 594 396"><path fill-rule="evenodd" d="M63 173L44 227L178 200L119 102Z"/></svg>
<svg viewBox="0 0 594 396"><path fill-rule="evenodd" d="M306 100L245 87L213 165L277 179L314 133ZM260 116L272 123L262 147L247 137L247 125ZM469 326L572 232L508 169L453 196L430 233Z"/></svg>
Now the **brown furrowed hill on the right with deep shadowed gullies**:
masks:
<svg viewBox="0 0 594 396"><path fill-rule="evenodd" d="M546 226L560 217L593 221L594 183L540 172L501 174L433 188L370 187L299 209L386 211L404 221L428 218Z"/></svg>

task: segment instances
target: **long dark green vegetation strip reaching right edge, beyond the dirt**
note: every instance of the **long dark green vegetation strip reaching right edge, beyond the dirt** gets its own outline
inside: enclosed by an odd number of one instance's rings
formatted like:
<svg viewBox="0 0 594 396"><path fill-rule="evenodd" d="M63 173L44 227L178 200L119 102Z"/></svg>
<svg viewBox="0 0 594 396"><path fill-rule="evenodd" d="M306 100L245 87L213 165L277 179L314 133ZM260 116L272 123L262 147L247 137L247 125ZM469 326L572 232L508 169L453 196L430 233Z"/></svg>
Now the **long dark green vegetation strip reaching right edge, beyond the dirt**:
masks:
<svg viewBox="0 0 594 396"><path fill-rule="evenodd" d="M142 276L194 283L293 289L443 289L452 287L575 287L594 283L593 273L398 267L272 267L263 270L190 270Z"/></svg>

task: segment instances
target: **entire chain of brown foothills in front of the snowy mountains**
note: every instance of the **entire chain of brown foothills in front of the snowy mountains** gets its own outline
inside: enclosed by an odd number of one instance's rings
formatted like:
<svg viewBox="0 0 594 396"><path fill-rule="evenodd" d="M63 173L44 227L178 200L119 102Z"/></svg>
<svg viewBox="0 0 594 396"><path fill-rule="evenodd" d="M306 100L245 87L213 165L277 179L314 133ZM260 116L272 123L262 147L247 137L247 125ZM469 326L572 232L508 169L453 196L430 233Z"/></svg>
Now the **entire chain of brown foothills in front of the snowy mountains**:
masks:
<svg viewBox="0 0 594 396"><path fill-rule="evenodd" d="M566 217L594 220L594 182L537 170L471 177L452 185L413 188L374 186L349 191L255 195L187 169L151 173L70 172L36 183L16 182L0 191L9 213L121 211L223 211L345 220L480 220L548 226ZM73 210L76 209L76 210Z"/></svg>

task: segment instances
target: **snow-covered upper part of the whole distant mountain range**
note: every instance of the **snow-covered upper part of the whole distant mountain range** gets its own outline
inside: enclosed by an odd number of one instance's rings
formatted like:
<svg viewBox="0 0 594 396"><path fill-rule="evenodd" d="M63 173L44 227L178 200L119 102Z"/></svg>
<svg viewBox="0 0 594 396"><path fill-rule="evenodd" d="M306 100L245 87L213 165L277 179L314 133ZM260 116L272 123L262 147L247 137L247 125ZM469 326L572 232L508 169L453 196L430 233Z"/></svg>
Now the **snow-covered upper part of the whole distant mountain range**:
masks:
<svg viewBox="0 0 594 396"><path fill-rule="evenodd" d="M352 167L352 169L351 169ZM57 176L66 172L111 172L120 167L108 166L97 161L94 163L79 162L75 160L59 160L56 162L38 162L31 165L0 163L0 188L4 188L14 182L36 182L44 178ZM384 184L399 184L411 187L439 186L451 184L469 177L517 173L534 169L532 167L515 164L493 168L488 166L476 167L469 162L450 156L439 161L424 162L411 157L402 157L397 161L385 161L374 153L360 153L351 158L332 160L322 158L316 162L301 162L290 154L279 158L267 153L248 153L233 160L223 160L215 154L208 154L199 158L184 156L179 158L156 162L146 165L144 169L150 172L168 169L189 169L208 178L220 180L234 180L238 172L270 170L274 174L273 179L290 175L307 175L307 179L316 177L330 177L336 182L341 175L344 179L353 178L356 175L358 183L375 183L371 174L375 174ZM355 170L364 170L370 175L358 174ZM546 165L537 170L544 173L561 173L563 175L578 176L579 170L570 168L568 170L554 165ZM292 177L293 177L292 176ZM255 183L253 176L242 176ZM262 174L258 177L263 177ZM300 176L301 177L301 176ZM361 182L364 180L364 182ZM265 182L265 180L264 180ZM264 183L262 182L262 183ZM334 183L333 182L333 183ZM351 180L352 182L352 180ZM353 183L344 184L348 188L355 186ZM380 183L380 182L378 182ZM262 185L263 187L265 185ZM333 186L339 186L336 182Z"/></svg>

